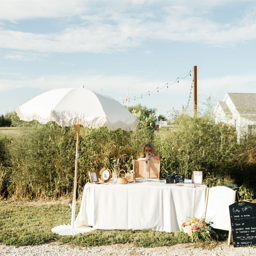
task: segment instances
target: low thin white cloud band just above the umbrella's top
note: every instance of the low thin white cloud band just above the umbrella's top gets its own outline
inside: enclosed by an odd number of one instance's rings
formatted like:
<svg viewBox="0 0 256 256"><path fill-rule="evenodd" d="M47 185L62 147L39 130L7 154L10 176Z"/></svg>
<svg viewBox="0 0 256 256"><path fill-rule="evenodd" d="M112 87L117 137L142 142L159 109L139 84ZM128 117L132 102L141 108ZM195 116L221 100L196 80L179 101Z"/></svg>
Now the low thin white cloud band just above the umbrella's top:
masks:
<svg viewBox="0 0 256 256"><path fill-rule="evenodd" d="M95 74L92 71L88 71L84 74L81 71L76 71L72 75L54 75L54 76L38 76L28 77L16 74L17 79L14 79L12 74L1 73L7 77L6 79L0 79L0 92L8 91L15 88L39 88L49 90L65 87L80 87L81 84L85 88L95 91L101 91L104 85L104 93L124 93L126 91L126 85L129 85L130 94L139 96L141 93L147 93L157 87L163 87L166 82L161 79L152 81L150 77L143 76L108 76L106 74ZM179 79L179 84L170 83L168 81L168 90L159 89L159 94L175 94L189 96L191 79ZM220 94L221 92L221 94ZM223 97L226 92L243 92L243 93L256 93L256 74L244 74L233 75L219 78L198 79L197 81L197 93L198 95L204 94L212 97ZM155 91L156 93L156 91ZM122 99L120 99L122 100Z"/></svg>

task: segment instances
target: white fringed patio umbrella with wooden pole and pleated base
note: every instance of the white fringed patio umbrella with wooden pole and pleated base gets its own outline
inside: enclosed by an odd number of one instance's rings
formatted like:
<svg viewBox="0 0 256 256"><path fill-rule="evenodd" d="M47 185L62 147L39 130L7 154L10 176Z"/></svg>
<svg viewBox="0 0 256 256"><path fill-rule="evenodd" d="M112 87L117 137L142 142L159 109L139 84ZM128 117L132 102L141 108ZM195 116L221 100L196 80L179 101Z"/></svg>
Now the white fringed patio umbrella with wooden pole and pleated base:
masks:
<svg viewBox="0 0 256 256"><path fill-rule="evenodd" d="M51 231L73 236L92 230L86 226L74 227L80 125L89 128L106 126L110 130L121 128L125 131L135 131L139 120L115 99L103 93L87 90L83 86L42 93L15 111L21 120L28 122L37 120L41 124L46 124L54 121L60 126L78 125L71 225L57 226Z"/></svg>

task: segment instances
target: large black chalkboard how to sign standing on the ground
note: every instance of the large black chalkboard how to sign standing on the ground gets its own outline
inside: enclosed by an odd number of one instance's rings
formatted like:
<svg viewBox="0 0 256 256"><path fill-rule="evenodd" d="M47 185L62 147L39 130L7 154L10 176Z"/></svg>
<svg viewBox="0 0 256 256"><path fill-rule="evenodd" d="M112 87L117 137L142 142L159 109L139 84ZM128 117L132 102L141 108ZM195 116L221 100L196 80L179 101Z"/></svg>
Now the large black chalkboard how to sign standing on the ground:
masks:
<svg viewBox="0 0 256 256"><path fill-rule="evenodd" d="M236 202L229 206L233 246L256 245L256 204Z"/></svg>

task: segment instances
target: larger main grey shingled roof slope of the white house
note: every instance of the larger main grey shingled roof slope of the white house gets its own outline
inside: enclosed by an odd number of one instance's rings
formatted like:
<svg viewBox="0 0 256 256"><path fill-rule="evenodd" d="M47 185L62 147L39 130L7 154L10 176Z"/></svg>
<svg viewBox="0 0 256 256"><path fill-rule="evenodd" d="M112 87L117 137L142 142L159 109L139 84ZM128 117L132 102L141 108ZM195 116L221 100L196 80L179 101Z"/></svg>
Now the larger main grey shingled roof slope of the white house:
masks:
<svg viewBox="0 0 256 256"><path fill-rule="evenodd" d="M239 114L256 114L256 93L228 93Z"/></svg>

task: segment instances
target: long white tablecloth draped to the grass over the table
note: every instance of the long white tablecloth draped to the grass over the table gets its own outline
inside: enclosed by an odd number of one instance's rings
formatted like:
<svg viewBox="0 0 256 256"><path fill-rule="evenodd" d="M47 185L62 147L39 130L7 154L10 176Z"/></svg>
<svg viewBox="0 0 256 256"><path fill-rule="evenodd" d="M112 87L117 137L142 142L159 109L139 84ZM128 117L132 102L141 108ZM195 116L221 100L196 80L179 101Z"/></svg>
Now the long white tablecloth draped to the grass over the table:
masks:
<svg viewBox="0 0 256 256"><path fill-rule="evenodd" d="M206 188L178 187L163 180L126 185L87 183L75 225L108 230L178 231L186 217L202 217Z"/></svg>

